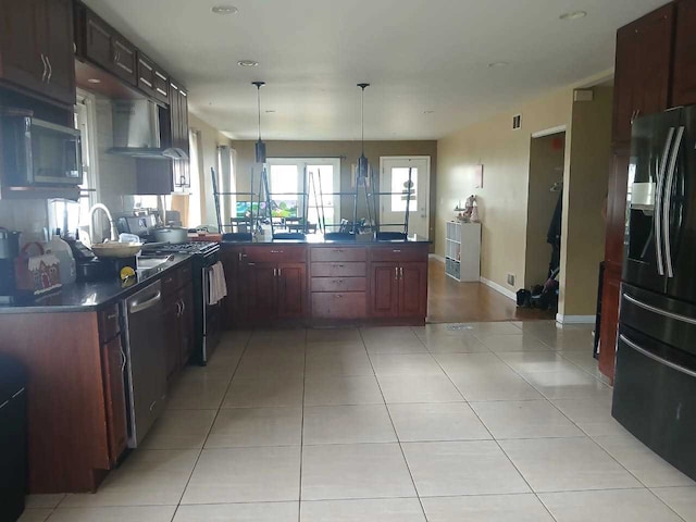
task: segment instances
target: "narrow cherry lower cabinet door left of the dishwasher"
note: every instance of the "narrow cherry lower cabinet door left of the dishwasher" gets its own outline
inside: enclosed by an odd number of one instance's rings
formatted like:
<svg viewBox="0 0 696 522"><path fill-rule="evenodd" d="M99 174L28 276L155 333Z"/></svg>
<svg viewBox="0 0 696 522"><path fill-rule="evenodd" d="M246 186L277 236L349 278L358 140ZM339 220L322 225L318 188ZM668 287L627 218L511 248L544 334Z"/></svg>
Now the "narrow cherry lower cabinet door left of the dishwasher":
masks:
<svg viewBox="0 0 696 522"><path fill-rule="evenodd" d="M121 335L101 346L101 366L107 408L109 460L115 463L128 444L126 395L123 380L125 355Z"/></svg>

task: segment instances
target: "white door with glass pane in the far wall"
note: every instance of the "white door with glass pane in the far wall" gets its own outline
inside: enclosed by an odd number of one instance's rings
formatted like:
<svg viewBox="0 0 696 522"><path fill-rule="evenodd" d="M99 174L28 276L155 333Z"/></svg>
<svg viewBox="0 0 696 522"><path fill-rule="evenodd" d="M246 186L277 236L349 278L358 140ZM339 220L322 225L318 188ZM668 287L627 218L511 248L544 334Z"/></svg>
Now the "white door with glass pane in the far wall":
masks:
<svg viewBox="0 0 696 522"><path fill-rule="evenodd" d="M411 176L410 199L409 171ZM409 235L430 239L431 158L380 158L380 224L382 232L402 232L409 211Z"/></svg>

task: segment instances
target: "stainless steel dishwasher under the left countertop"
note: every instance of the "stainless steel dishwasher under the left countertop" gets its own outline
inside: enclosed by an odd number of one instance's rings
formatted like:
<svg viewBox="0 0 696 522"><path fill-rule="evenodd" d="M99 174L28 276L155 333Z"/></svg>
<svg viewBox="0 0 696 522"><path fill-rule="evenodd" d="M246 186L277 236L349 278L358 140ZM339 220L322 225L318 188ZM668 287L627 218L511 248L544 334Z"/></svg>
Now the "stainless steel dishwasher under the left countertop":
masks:
<svg viewBox="0 0 696 522"><path fill-rule="evenodd" d="M164 408L164 306L158 281L123 302L128 390L128 446L137 448Z"/></svg>

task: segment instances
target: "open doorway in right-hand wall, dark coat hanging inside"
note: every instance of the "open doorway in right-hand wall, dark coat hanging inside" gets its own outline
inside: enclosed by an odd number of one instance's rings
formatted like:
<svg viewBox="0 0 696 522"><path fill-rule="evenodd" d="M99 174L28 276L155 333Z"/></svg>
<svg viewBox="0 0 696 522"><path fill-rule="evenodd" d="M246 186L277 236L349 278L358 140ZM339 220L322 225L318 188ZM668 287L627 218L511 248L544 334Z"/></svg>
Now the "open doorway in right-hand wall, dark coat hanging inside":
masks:
<svg viewBox="0 0 696 522"><path fill-rule="evenodd" d="M544 285L560 266L566 130L532 137L524 286Z"/></svg>

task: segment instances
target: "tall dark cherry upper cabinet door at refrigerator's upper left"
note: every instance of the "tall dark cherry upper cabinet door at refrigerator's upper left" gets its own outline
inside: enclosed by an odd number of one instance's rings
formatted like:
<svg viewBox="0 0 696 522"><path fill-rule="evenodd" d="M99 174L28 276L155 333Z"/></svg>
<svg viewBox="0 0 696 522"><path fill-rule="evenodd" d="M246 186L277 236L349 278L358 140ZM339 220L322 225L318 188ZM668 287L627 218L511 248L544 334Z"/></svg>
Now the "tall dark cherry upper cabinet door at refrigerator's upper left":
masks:
<svg viewBox="0 0 696 522"><path fill-rule="evenodd" d="M636 117L670 107L674 11L667 4L617 33L614 145L631 141Z"/></svg>

